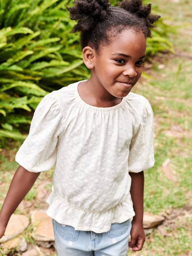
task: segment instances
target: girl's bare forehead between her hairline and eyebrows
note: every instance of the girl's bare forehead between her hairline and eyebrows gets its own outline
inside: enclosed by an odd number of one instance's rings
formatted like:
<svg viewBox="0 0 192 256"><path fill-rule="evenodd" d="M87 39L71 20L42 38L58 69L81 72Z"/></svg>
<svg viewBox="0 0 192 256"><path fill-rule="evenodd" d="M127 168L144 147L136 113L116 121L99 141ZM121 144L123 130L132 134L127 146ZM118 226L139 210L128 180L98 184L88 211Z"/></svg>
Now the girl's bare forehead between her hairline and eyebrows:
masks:
<svg viewBox="0 0 192 256"><path fill-rule="evenodd" d="M109 54L124 53L130 56L142 56L145 55L146 39L142 32L125 29L105 45L103 50L104 53Z"/></svg>

